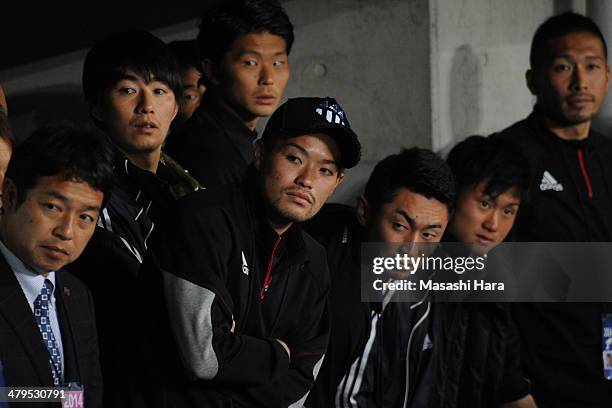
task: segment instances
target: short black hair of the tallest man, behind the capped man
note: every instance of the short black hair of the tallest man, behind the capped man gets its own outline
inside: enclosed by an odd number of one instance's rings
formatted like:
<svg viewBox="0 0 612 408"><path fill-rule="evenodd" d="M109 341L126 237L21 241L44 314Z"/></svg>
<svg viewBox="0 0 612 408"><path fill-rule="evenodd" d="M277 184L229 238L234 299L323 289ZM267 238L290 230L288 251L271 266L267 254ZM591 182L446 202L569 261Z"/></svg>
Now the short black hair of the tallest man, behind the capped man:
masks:
<svg viewBox="0 0 612 408"><path fill-rule="evenodd" d="M282 37L287 55L293 45L293 25L277 0L222 1L202 16L197 41L200 58L218 63L238 38L251 33Z"/></svg>

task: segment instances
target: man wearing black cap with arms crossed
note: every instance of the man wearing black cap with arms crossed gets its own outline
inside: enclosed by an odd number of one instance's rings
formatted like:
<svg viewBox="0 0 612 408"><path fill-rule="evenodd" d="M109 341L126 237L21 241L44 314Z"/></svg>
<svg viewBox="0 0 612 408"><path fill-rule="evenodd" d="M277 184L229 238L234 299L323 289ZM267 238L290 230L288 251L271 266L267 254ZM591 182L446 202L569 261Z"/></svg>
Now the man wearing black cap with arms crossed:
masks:
<svg viewBox="0 0 612 408"><path fill-rule="evenodd" d="M167 359L161 386L179 390L165 398L173 407L302 406L327 348L329 276L323 247L298 223L360 149L334 99L290 99L246 183L185 197L154 233L171 317L160 333L172 333L154 353Z"/></svg>

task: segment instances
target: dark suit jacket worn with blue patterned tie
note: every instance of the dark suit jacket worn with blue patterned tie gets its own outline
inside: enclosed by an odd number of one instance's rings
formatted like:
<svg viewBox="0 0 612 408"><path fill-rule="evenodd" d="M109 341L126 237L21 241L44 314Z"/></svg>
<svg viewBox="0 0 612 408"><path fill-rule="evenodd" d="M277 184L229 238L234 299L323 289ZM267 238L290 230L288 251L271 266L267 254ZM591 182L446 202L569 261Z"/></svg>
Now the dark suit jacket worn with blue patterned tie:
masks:
<svg viewBox="0 0 612 408"><path fill-rule="evenodd" d="M65 271L55 273L55 298L62 332L64 382L84 386L86 407L102 406L102 376L91 294ZM49 352L28 301L0 255L0 362L7 387L53 387ZM15 403L15 407L59 407L59 403Z"/></svg>

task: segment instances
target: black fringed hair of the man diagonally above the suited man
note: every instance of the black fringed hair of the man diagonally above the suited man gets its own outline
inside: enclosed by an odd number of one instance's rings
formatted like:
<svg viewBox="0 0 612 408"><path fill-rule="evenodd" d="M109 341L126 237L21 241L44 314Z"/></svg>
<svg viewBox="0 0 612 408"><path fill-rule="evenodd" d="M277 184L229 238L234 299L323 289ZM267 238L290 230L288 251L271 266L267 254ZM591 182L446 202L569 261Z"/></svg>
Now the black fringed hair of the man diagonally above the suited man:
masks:
<svg viewBox="0 0 612 408"><path fill-rule="evenodd" d="M85 100L100 103L102 93L128 70L146 81L155 78L168 84L177 103L182 104L183 87L174 55L162 40L145 30L113 33L94 44L83 66Z"/></svg>

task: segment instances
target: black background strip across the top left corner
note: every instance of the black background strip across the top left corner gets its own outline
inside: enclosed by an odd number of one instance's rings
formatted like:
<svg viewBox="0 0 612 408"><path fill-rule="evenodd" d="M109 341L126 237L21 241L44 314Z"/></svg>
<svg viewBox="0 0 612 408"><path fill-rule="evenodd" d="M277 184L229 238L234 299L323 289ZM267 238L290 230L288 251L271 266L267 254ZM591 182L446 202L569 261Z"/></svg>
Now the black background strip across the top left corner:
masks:
<svg viewBox="0 0 612 408"><path fill-rule="evenodd" d="M211 0L28 2L2 8L0 70L89 48L114 31L155 30L197 19ZM6 4L5 4L6 6Z"/></svg>

